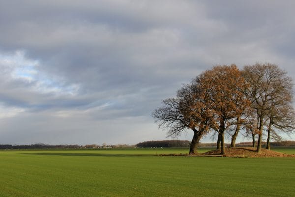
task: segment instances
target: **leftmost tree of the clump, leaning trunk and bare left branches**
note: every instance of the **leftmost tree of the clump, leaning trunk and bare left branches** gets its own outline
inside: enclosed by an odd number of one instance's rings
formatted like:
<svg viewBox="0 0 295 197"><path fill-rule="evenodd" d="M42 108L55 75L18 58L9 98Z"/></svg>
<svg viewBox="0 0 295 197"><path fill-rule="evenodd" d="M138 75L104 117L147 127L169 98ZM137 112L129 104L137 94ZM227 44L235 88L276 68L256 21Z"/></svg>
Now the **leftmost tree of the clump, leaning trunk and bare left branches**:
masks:
<svg viewBox="0 0 295 197"><path fill-rule="evenodd" d="M196 154L200 139L206 132L211 116L207 114L204 103L199 98L199 79L184 85L177 92L176 98L163 100L164 106L156 109L152 116L159 123L159 128L169 128L168 136L178 136L186 129L194 132L189 154Z"/></svg>

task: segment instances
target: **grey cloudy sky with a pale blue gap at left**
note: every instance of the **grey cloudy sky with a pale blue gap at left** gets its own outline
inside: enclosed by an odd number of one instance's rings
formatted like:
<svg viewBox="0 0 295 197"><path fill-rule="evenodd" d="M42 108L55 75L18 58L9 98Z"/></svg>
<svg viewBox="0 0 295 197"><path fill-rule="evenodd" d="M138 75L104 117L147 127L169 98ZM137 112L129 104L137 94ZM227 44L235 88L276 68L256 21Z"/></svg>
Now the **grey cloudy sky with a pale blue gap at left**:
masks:
<svg viewBox="0 0 295 197"><path fill-rule="evenodd" d="M151 113L202 71L270 62L295 80L294 9L294 0L0 0L0 144L171 139Z"/></svg>

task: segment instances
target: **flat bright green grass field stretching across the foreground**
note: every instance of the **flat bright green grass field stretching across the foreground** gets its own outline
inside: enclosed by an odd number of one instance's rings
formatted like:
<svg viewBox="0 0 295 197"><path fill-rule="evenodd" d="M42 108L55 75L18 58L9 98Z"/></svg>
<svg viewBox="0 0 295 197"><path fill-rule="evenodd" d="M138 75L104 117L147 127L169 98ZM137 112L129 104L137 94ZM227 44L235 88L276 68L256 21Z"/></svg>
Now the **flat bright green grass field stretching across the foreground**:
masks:
<svg viewBox="0 0 295 197"><path fill-rule="evenodd" d="M275 150L295 154L295 148ZM2 150L0 197L295 196L295 158L155 156L187 152Z"/></svg>

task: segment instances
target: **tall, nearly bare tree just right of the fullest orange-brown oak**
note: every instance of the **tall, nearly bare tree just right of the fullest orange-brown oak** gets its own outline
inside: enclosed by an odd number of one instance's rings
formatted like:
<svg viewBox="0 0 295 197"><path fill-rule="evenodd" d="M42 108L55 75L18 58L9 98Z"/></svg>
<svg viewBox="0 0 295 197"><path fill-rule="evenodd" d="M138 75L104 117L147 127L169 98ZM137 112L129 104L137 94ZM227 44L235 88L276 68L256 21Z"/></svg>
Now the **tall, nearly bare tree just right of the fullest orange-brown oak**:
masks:
<svg viewBox="0 0 295 197"><path fill-rule="evenodd" d="M257 152L261 151L262 135L266 121L269 121L269 139L271 127L273 126L274 114L278 114L278 106L289 100L291 79L286 72L277 65L256 63L252 66L244 66L243 76L249 85L247 97L251 100L251 107L257 114L258 144ZM271 118L271 120L270 120ZM283 117L282 117L283 118Z"/></svg>

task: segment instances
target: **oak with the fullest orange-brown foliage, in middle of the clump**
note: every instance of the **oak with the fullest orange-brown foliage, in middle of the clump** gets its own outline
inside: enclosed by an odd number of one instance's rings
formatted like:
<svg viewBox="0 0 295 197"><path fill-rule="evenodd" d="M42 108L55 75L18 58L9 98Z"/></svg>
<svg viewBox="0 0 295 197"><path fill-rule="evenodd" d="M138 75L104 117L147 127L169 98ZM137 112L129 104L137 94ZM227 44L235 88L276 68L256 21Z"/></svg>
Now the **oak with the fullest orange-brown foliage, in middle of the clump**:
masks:
<svg viewBox="0 0 295 197"><path fill-rule="evenodd" d="M200 75L201 99L212 112L210 128L221 139L221 154L225 153L224 134L230 120L242 115L249 105L245 97L247 84L236 65L214 66Z"/></svg>

